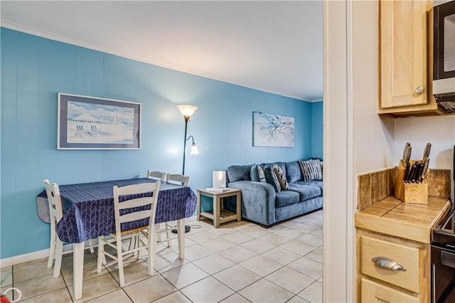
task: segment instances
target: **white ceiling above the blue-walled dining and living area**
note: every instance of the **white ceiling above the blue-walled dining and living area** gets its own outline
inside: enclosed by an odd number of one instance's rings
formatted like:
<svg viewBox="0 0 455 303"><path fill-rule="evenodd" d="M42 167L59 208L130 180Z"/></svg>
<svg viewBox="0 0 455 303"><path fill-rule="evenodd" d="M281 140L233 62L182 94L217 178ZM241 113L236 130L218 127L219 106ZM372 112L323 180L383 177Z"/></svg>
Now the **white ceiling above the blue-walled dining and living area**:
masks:
<svg viewBox="0 0 455 303"><path fill-rule="evenodd" d="M0 1L1 26L265 92L323 96L319 1Z"/></svg>

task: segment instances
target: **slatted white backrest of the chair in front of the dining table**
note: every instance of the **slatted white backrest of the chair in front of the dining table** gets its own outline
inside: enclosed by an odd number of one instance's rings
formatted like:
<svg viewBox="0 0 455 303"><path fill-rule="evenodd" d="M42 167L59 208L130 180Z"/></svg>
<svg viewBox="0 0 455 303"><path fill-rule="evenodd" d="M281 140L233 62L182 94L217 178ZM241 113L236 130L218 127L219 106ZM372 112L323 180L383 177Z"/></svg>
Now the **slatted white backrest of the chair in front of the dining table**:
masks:
<svg viewBox="0 0 455 303"><path fill-rule="evenodd" d="M132 222L144 218L149 219L149 228L153 229L155 224L156 201L158 200L158 192L161 181L154 183L132 184L129 186L114 186L114 213L115 213L115 233L120 235L122 229L120 223ZM136 196L139 193L149 193L150 197L131 198L126 201L119 202L119 196ZM127 208L137 208L141 206L150 206L150 209L144 211L134 211L132 213L120 214L120 210Z"/></svg>

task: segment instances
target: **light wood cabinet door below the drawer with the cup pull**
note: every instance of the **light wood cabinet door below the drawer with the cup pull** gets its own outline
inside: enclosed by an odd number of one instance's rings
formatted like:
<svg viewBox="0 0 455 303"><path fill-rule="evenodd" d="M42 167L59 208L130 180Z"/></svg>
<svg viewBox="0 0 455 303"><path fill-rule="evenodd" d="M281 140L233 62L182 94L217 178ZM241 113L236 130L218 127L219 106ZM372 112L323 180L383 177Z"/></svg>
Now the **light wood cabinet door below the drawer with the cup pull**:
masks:
<svg viewBox="0 0 455 303"><path fill-rule="evenodd" d="M362 278L362 302L419 302L419 298Z"/></svg>

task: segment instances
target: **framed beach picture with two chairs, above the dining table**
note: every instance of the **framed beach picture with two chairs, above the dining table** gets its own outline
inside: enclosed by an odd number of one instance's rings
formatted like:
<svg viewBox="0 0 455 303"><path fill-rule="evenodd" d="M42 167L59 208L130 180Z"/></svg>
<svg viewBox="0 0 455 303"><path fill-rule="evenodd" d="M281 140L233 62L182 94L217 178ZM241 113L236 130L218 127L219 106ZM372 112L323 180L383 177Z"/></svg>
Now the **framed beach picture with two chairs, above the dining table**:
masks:
<svg viewBox="0 0 455 303"><path fill-rule="evenodd" d="M58 93L57 149L140 149L141 104Z"/></svg>

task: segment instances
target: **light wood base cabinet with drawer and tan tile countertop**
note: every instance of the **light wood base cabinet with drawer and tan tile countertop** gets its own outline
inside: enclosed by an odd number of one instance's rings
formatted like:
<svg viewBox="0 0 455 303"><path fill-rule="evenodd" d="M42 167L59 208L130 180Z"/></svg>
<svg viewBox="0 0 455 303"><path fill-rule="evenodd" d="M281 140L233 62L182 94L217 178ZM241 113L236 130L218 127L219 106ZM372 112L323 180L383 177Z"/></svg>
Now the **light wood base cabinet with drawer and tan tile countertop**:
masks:
<svg viewBox="0 0 455 303"><path fill-rule="evenodd" d="M430 302L430 237L450 206L388 196L355 213L358 302Z"/></svg>

